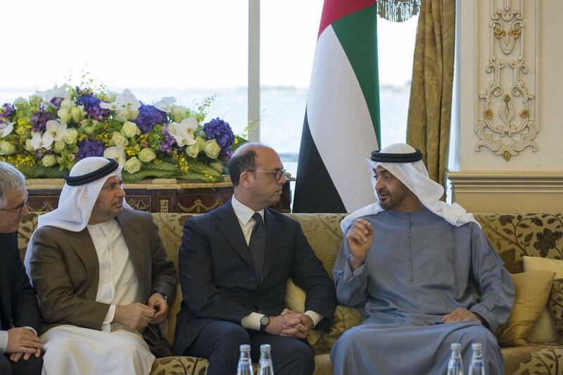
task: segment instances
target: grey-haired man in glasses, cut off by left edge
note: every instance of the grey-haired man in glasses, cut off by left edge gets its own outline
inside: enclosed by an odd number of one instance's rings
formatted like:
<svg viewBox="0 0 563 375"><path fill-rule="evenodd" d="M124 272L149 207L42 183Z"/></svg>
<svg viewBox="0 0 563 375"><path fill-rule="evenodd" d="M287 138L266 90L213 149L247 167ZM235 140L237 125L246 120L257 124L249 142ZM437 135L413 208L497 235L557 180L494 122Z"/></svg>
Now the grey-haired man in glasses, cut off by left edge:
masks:
<svg viewBox="0 0 563 375"><path fill-rule="evenodd" d="M0 374L41 374L39 306L18 250L18 227L27 214L25 177L0 162Z"/></svg>

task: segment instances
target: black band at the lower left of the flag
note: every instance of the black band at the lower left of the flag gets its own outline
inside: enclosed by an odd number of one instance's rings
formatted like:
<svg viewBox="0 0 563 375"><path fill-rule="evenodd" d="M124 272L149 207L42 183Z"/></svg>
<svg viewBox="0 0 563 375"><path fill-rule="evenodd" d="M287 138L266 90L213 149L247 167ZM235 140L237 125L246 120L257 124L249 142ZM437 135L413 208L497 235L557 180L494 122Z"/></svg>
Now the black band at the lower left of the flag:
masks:
<svg viewBox="0 0 563 375"><path fill-rule="evenodd" d="M313 141L305 110L293 212L346 212Z"/></svg>

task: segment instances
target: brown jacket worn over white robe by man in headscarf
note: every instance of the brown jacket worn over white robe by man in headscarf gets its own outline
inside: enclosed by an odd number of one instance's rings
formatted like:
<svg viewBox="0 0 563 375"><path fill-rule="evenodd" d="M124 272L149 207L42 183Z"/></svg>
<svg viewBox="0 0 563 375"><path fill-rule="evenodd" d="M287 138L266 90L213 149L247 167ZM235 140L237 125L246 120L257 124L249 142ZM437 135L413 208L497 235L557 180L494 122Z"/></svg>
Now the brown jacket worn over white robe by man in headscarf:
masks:
<svg viewBox="0 0 563 375"><path fill-rule="evenodd" d="M151 214L124 209L116 219L137 274L141 302L146 303L153 291L158 290L172 303L176 271ZM110 305L96 302L99 261L88 229L75 232L41 227L33 234L32 241L30 274L44 319L41 332L59 324L101 330ZM161 337L158 326L149 325L143 337L156 355L169 354L170 344Z"/></svg>

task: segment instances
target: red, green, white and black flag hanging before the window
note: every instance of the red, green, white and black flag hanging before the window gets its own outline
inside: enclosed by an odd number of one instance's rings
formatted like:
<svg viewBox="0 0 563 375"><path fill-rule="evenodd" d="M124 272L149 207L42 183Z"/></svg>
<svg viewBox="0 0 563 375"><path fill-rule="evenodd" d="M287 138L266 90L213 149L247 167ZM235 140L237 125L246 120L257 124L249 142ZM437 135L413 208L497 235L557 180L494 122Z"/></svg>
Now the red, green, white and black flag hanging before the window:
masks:
<svg viewBox="0 0 563 375"><path fill-rule="evenodd" d="M324 0L293 212L353 212L374 202L365 158L379 149L377 6Z"/></svg>

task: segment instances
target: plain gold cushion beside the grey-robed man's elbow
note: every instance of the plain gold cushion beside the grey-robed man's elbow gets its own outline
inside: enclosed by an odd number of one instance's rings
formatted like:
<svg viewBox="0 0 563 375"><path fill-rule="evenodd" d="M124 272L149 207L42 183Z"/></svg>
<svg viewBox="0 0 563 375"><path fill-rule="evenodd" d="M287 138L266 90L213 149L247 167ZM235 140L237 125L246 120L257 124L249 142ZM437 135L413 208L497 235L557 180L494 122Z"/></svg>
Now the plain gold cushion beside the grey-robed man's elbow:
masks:
<svg viewBox="0 0 563 375"><path fill-rule="evenodd" d="M516 300L507 324L496 333L500 345L528 345L526 338L548 301L554 275L555 273L550 271L529 271L511 275Z"/></svg>

